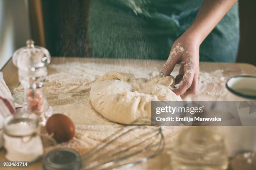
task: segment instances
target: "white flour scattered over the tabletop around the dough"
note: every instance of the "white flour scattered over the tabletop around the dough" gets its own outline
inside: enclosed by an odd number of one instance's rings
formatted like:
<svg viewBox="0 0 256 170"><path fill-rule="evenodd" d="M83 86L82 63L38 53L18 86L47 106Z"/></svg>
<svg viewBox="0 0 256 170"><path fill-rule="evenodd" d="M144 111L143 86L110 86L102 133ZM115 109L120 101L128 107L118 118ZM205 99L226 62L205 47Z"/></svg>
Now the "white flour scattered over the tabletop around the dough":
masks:
<svg viewBox="0 0 256 170"><path fill-rule="evenodd" d="M123 125L105 119L92 107L90 102L91 84L110 71L133 73L136 78L143 77L146 79L159 74L157 67L119 66L95 62L67 62L49 65L48 76L44 85L44 92L49 105L53 108L54 113L69 116L76 125L74 138L54 148L72 148L83 154L123 127ZM174 77L177 74L178 68L172 72ZM200 72L199 77L201 80L199 82L199 95L201 93L212 95L225 93L225 80L223 80L225 78L222 78L221 70L212 73ZM207 88L208 83L212 88ZM23 96L23 88L20 85L13 92L15 102L22 104ZM174 142L182 128L180 126L162 127L166 145Z"/></svg>

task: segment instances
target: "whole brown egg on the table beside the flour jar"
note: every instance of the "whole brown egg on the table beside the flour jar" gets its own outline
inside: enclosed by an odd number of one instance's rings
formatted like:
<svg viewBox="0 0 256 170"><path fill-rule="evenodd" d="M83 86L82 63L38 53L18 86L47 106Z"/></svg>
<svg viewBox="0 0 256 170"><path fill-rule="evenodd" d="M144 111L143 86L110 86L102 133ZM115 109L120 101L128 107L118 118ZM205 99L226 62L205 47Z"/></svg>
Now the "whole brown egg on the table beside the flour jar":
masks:
<svg viewBox="0 0 256 170"><path fill-rule="evenodd" d="M58 143L71 140L75 134L75 127L72 120L60 113L49 117L46 122L46 130L49 135L54 134L53 138Z"/></svg>

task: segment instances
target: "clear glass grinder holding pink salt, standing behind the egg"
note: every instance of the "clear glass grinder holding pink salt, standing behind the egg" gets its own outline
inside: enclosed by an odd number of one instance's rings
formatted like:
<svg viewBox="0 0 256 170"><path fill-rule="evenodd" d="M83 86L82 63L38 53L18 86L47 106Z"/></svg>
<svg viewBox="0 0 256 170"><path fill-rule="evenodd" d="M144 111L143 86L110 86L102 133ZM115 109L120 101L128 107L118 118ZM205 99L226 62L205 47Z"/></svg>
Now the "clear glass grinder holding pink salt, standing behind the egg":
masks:
<svg viewBox="0 0 256 170"><path fill-rule="evenodd" d="M26 47L13 54L13 63L18 67L19 80L24 87L23 111L35 113L39 116L40 124L45 125L53 112L43 92L46 66L51 61L51 55L44 47L35 46L33 40L26 43Z"/></svg>

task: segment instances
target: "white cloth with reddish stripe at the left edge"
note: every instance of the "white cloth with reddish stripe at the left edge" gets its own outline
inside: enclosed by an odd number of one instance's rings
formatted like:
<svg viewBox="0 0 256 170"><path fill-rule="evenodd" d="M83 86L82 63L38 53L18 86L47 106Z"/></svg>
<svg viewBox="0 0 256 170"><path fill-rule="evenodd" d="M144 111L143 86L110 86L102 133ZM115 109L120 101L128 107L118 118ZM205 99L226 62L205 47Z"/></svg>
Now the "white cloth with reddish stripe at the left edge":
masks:
<svg viewBox="0 0 256 170"><path fill-rule="evenodd" d="M15 104L12 94L3 80L0 72L0 148L3 146L3 122L5 117L15 113Z"/></svg>

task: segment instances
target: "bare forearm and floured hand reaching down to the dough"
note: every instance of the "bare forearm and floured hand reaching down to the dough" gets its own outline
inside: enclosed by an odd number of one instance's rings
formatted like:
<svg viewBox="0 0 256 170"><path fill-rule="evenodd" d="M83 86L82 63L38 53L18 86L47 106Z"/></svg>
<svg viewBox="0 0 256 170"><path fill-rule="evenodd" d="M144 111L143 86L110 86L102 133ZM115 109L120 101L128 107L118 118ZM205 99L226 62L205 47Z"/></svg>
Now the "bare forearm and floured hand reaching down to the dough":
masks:
<svg viewBox="0 0 256 170"><path fill-rule="evenodd" d="M197 92L199 46L237 1L204 0L194 23L172 45L169 58L161 72L170 75L176 63L181 64L179 74L183 77L179 87L174 90L177 95L186 91Z"/></svg>

